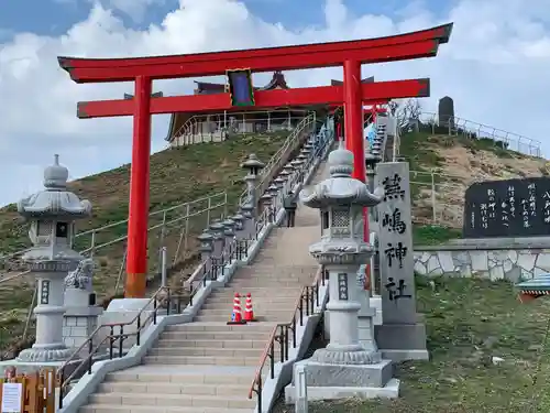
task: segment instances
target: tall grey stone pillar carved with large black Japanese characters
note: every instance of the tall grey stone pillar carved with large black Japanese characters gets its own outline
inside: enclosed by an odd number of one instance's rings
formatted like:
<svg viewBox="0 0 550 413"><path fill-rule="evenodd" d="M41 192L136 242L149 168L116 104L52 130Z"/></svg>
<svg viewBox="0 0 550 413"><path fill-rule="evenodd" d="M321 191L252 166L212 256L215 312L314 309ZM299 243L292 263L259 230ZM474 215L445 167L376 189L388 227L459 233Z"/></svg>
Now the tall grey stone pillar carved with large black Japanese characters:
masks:
<svg viewBox="0 0 550 413"><path fill-rule="evenodd" d="M427 360L426 326L416 312L408 163L380 163L376 183L385 189L378 205L383 324L376 340L394 361Z"/></svg>

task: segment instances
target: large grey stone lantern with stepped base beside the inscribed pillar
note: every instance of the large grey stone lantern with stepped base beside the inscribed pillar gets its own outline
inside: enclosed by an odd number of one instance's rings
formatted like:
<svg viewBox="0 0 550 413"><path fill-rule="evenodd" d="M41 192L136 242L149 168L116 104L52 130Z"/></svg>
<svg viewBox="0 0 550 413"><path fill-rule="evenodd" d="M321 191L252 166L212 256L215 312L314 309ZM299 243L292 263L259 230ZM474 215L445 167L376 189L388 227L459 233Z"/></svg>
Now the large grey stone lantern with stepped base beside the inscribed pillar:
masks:
<svg viewBox="0 0 550 413"><path fill-rule="evenodd" d="M374 252L364 241L363 208L377 205L383 191L373 194L351 177L353 154L342 142L329 154L328 166L330 177L304 188L300 199L321 215L321 240L311 244L309 252L329 272L330 343L298 365L305 366L310 400L387 395L397 384L392 381L392 389L386 385L392 379L392 361L382 359L372 325L371 339L366 345L359 341L363 291L356 281L359 267Z"/></svg>

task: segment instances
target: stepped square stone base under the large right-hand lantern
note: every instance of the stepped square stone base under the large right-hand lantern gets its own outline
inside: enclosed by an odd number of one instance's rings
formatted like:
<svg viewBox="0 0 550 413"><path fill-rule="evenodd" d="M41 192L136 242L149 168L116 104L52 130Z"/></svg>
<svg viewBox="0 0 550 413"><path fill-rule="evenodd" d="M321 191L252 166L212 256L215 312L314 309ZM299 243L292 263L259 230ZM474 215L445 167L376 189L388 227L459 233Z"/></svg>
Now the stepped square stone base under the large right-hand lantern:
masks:
<svg viewBox="0 0 550 413"><path fill-rule="evenodd" d="M306 371L308 401L399 396L400 382L392 378L391 360L374 365L329 365L308 359L298 361L295 369L299 366L304 366ZM285 402L295 404L296 400L297 389L293 381L285 388Z"/></svg>

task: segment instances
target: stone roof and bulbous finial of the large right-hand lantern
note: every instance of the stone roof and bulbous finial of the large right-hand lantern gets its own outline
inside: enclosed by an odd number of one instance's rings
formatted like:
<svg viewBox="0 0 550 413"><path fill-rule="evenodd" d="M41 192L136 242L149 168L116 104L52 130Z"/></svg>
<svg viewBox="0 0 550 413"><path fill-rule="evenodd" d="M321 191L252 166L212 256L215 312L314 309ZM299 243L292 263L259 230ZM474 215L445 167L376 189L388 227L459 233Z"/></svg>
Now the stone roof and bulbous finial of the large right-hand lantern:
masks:
<svg viewBox="0 0 550 413"><path fill-rule="evenodd" d="M376 188L374 194L369 186L351 177L353 172L353 153L340 146L330 152L328 157L330 177L319 184L306 187L300 192L304 205L310 208L326 208L331 205L358 205L373 207L382 200L384 191Z"/></svg>

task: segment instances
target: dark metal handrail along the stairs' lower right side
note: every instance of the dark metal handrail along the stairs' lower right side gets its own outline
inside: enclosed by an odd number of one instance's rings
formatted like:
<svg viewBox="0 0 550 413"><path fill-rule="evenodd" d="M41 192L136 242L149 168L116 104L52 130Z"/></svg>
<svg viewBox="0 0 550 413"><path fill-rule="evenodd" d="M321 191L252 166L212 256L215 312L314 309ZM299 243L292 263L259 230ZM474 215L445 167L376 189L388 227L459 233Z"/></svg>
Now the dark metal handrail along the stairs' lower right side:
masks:
<svg viewBox="0 0 550 413"><path fill-rule="evenodd" d="M304 326L306 317L318 314L316 313L316 306L320 308L323 304L320 302L319 291L321 286L328 283L328 271L322 265L319 265L311 285L306 285L301 289L300 295L296 300L290 322L279 323L273 328L262 356L260 357L260 362L249 390L249 399L252 399L254 394L256 394L257 411L260 413L262 413L262 392L264 387L262 376L267 361L270 362L268 374L273 380L275 379L275 363L277 361L282 363L288 361L289 349L293 348L296 350L298 345L296 335L297 326ZM276 349L277 345L278 351Z"/></svg>

